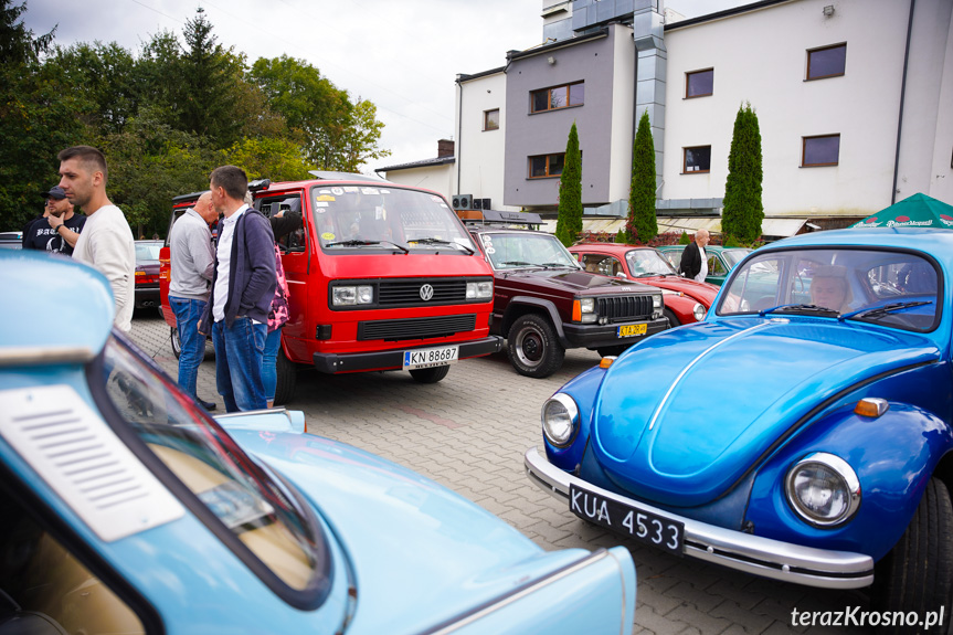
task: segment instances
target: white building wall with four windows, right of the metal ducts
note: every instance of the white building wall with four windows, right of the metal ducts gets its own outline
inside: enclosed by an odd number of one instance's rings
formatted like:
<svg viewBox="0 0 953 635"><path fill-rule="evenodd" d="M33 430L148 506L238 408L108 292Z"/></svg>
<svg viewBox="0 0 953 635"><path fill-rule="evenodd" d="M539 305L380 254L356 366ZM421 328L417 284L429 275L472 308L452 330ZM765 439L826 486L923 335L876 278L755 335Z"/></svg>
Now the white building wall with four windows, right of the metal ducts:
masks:
<svg viewBox="0 0 953 635"><path fill-rule="evenodd" d="M734 118L749 100L761 128L765 214L864 215L889 205L908 14L899 0L795 0L667 31L661 198L724 195ZM845 75L805 82L806 51L841 42ZM685 73L709 67L713 95L685 99ZM840 134L839 165L801 168L802 136L827 134ZM706 145L711 171L681 174L682 148Z"/></svg>

